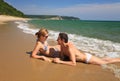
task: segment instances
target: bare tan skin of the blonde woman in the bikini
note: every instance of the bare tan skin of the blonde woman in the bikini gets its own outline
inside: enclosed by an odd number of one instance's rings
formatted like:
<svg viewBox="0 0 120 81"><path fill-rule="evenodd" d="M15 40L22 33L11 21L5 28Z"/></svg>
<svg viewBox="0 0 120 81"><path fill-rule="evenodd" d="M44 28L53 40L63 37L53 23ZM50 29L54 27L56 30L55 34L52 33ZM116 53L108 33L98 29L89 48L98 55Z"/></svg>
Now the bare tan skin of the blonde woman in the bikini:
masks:
<svg viewBox="0 0 120 81"><path fill-rule="evenodd" d="M32 57L33 58L37 58L37 59L42 59L44 61L48 61L48 62L51 62L51 60L46 57L46 56L50 56L51 53L53 53L53 51L51 52L50 49L52 48L57 48L59 49L59 45L56 45L56 46L48 46L46 40L47 40L47 37L48 37L48 34L46 34L45 36L40 36L36 42L36 45L33 49L33 52L32 52ZM44 50L44 46L48 46L48 49L47 50ZM37 55L37 53L40 52L46 56L40 56L40 55Z"/></svg>

